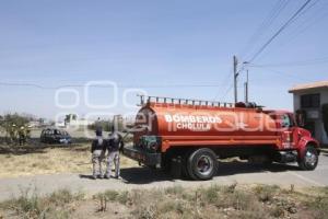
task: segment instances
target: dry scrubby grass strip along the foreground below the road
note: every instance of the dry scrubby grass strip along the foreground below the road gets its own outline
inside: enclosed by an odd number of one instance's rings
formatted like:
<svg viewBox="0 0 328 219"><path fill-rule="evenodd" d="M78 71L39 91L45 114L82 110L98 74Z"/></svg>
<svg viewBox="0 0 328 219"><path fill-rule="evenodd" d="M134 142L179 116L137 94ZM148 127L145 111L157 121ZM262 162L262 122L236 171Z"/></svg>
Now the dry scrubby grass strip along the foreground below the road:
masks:
<svg viewBox="0 0 328 219"><path fill-rule="evenodd" d="M0 203L0 218L328 218L328 189L302 193L278 186L107 191L92 198L67 189Z"/></svg>

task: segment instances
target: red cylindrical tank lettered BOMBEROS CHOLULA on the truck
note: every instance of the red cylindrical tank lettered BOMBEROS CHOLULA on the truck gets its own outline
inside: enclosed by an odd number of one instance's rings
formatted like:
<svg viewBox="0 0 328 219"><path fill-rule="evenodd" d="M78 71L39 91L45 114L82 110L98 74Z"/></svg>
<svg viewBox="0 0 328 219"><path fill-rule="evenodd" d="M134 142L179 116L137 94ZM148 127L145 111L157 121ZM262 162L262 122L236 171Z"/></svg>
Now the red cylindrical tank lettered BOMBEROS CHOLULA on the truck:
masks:
<svg viewBox="0 0 328 219"><path fill-rule="evenodd" d="M270 143L277 140L276 120L259 108L148 103L139 111L136 125L139 131L134 141L142 135L168 140L221 139L221 143L256 145L261 140L270 139Z"/></svg>

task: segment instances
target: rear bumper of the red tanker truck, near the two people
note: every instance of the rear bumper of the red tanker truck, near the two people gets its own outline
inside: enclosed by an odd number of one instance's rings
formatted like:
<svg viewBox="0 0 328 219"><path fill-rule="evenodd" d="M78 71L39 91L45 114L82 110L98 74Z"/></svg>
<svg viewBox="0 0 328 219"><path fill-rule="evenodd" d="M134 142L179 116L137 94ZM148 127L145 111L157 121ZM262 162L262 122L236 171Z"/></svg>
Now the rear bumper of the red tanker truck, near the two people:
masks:
<svg viewBox="0 0 328 219"><path fill-rule="evenodd" d="M161 153L150 153L140 148L128 146L124 149L124 154L148 166L161 165Z"/></svg>

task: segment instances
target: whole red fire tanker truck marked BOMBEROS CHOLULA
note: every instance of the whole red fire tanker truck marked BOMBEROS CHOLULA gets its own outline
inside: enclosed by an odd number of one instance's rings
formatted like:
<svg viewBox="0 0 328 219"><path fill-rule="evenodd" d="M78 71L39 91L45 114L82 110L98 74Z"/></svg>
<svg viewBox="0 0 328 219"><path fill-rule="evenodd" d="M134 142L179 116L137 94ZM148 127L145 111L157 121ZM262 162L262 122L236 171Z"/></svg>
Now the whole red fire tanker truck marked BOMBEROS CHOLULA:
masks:
<svg viewBox="0 0 328 219"><path fill-rule="evenodd" d="M262 165L297 162L302 170L318 163L319 143L297 127L285 111L254 103L140 96L133 143L124 153L147 166L210 180L218 159L238 157Z"/></svg>

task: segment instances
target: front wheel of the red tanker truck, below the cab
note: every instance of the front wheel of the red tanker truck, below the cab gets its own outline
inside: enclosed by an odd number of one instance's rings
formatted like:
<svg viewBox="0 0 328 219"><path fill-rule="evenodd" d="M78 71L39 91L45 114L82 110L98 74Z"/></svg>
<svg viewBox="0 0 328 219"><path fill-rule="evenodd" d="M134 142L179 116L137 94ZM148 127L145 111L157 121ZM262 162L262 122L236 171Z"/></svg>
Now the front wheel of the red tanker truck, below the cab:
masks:
<svg viewBox="0 0 328 219"><path fill-rule="evenodd" d="M307 146L303 158L298 161L300 169L304 171L313 171L317 168L319 161L319 154L315 147Z"/></svg>

